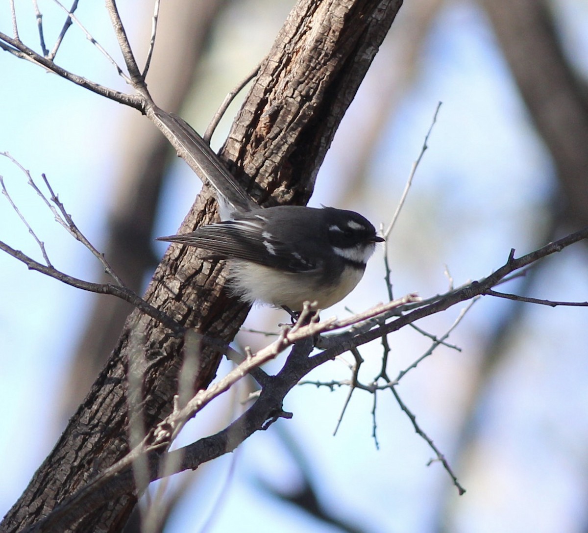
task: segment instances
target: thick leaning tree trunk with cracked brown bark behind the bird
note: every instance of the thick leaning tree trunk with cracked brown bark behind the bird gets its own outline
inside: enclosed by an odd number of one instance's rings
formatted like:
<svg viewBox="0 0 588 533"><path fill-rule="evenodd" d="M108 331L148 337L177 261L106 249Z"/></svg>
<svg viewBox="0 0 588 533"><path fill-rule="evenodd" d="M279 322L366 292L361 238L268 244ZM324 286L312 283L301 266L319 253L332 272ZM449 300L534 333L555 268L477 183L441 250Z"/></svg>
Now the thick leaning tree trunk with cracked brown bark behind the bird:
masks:
<svg viewBox="0 0 588 533"><path fill-rule="evenodd" d="M355 96L401 0L300 1L290 13L246 96L222 158L261 204L305 204L343 114ZM181 231L212 222L204 188ZM223 291L222 265L198 251L171 246L145 299L186 328L230 341L248 307ZM0 531L33 524L128 452L129 404L152 427L171 411L182 364L183 338L138 311L125 323L88 396L70 419ZM203 348L194 388L215 375L220 354ZM141 394L129 401L128 371L141 371ZM71 531L121 531L136 503L133 494L89 515Z"/></svg>

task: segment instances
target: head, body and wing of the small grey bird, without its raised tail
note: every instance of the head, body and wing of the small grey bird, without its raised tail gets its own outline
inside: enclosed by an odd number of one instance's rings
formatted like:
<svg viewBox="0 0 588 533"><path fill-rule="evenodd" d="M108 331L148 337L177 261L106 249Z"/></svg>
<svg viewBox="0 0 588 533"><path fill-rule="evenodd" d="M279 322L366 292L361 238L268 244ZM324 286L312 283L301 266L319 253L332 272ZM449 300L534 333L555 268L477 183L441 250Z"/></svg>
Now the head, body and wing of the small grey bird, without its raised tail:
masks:
<svg viewBox="0 0 588 533"><path fill-rule="evenodd" d="M326 309L346 297L384 239L354 211L281 205L233 211L216 224L158 240L227 259L229 290L243 301L298 312L305 301Z"/></svg>

